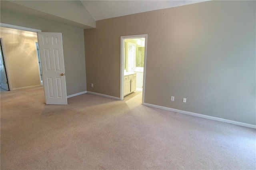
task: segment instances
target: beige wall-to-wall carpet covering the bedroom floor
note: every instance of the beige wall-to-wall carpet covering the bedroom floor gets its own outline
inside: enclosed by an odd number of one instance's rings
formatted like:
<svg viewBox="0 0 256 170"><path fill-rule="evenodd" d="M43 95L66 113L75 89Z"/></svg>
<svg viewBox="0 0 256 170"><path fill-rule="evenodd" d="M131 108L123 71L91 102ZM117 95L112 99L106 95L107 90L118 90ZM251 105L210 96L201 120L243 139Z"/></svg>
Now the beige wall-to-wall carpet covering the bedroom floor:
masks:
<svg viewBox="0 0 256 170"><path fill-rule="evenodd" d="M45 105L42 87L1 91L1 170L256 169L256 130L84 94ZM242 113L241 113L242 114Z"/></svg>

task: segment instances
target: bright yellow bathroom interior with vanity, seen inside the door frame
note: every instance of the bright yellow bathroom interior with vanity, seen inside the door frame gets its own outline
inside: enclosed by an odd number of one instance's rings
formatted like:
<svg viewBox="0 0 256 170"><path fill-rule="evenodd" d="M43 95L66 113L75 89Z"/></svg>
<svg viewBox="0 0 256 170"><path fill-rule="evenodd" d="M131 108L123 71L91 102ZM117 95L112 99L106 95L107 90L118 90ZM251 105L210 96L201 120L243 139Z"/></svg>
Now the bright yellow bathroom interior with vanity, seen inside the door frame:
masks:
<svg viewBox="0 0 256 170"><path fill-rule="evenodd" d="M142 93L145 38L124 40L124 97Z"/></svg>

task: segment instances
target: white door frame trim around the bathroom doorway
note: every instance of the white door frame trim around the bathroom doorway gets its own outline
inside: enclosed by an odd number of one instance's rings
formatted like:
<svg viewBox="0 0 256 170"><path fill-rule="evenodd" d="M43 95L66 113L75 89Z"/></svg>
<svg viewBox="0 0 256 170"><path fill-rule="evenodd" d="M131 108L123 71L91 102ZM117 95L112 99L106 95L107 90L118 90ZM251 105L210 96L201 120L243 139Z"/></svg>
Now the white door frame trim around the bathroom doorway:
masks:
<svg viewBox="0 0 256 170"><path fill-rule="evenodd" d="M125 39L135 39L135 38L145 38L143 88L142 88L142 105L144 105L148 34L140 34L140 35L133 35L133 36L121 36L120 100L124 100L124 51L123 51L124 50L124 40Z"/></svg>

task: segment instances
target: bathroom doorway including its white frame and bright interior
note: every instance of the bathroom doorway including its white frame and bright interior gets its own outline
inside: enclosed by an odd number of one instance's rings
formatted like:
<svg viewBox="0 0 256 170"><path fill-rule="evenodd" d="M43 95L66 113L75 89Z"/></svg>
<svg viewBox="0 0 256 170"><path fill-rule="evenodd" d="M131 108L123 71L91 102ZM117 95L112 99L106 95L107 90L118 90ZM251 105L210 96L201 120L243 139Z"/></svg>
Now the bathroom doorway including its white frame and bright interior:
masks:
<svg viewBox="0 0 256 170"><path fill-rule="evenodd" d="M142 91L144 104L147 34L121 36L120 100Z"/></svg>

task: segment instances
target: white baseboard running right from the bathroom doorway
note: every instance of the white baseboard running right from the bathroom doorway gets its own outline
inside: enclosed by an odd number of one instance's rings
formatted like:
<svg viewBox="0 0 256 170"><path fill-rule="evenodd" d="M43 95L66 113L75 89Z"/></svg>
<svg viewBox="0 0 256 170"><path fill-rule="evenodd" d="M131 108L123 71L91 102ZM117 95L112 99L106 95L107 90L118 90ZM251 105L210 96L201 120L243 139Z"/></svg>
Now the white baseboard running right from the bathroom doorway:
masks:
<svg viewBox="0 0 256 170"><path fill-rule="evenodd" d="M182 114L196 116L196 117L202 117L202 118L205 118L205 119L210 119L210 120L214 120L214 121L230 123L230 124L233 124L233 125L239 125L239 126L242 126L242 127L248 127L248 128L256 129L256 125L251 125L251 124L248 124L248 123L236 122L236 121L231 121L231 120L228 120L228 119L222 119L222 118L218 118L218 117L201 115L201 114L198 114L198 113L182 111L182 110L172 109L172 108L169 108L169 107L163 107L163 106L158 106L158 105L152 105L152 104L149 104L149 103L144 103L144 105L149 106L149 107L155 107L155 108L158 108L158 109L163 109L163 110L166 110L166 111L172 111L172 112L182 113Z"/></svg>

